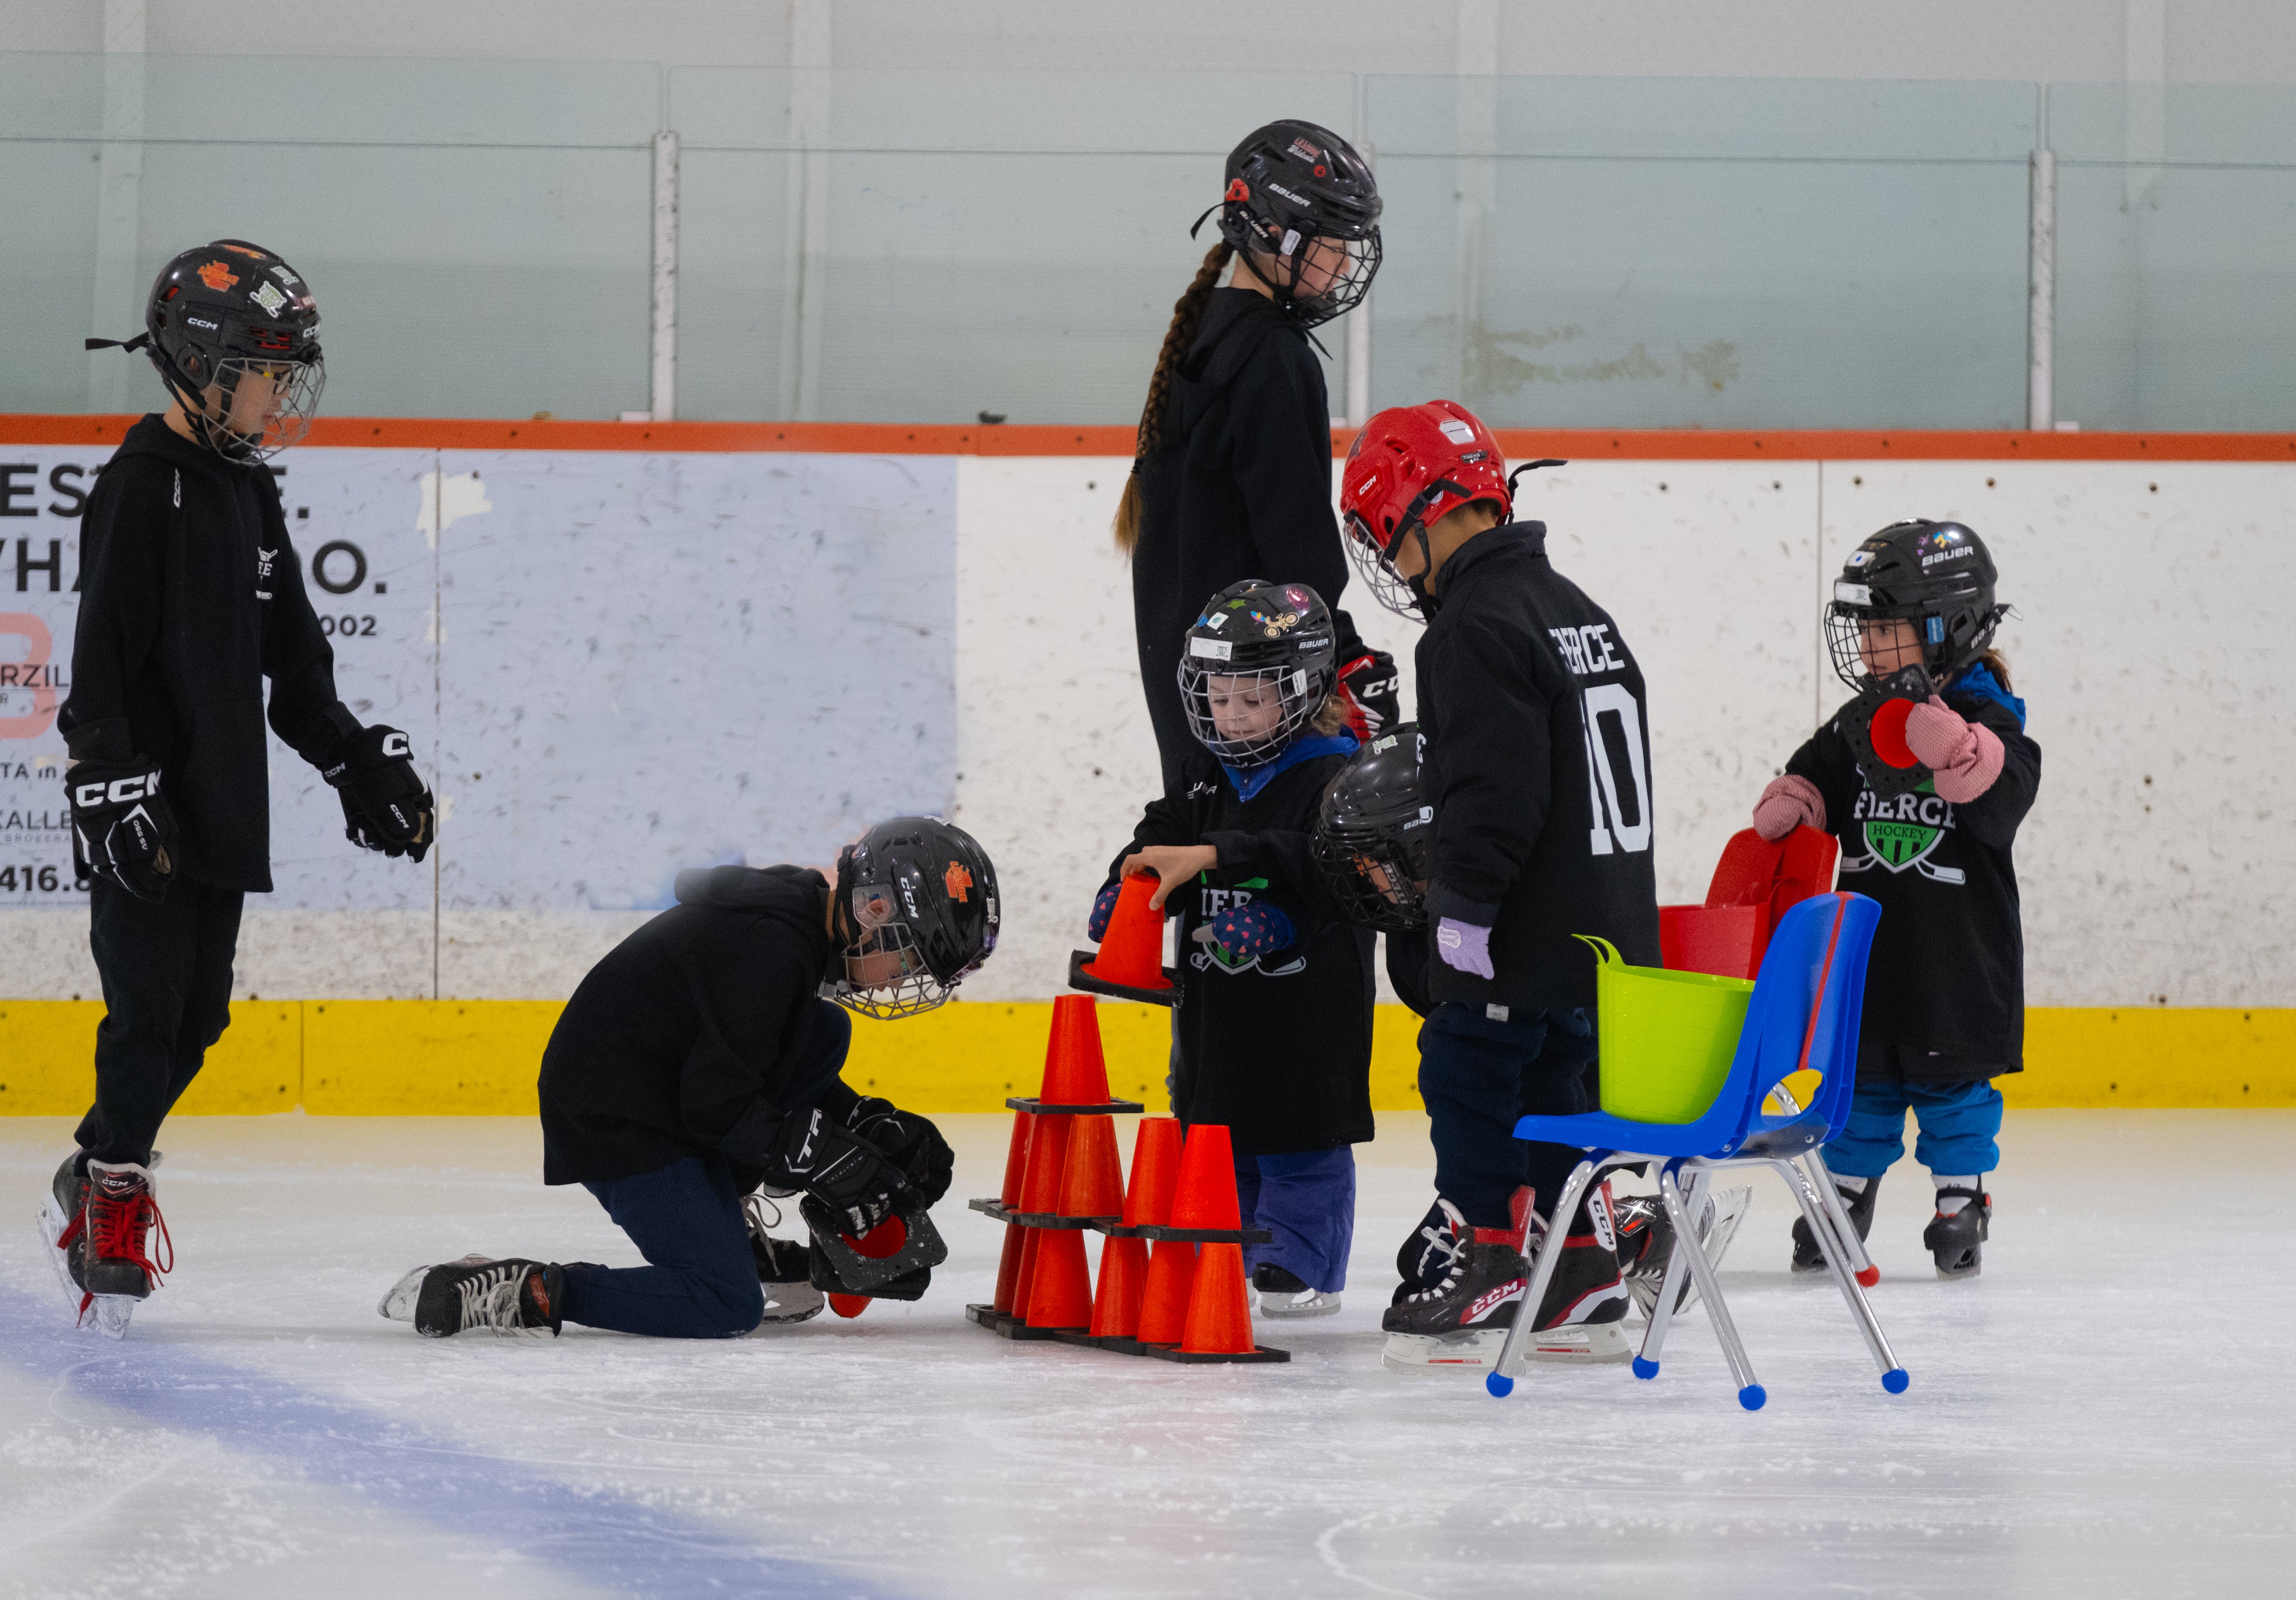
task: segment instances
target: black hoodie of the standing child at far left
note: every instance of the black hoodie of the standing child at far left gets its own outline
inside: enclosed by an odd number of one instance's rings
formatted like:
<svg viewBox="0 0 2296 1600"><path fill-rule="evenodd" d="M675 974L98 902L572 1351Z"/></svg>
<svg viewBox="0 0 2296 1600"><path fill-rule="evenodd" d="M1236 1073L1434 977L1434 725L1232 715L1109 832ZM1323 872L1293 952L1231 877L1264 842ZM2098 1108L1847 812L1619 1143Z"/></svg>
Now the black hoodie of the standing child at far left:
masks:
<svg viewBox="0 0 2296 1600"><path fill-rule="evenodd" d="M269 891L262 679L271 728L303 760L326 764L342 737L328 719L335 652L278 480L142 418L87 496L80 588L71 698L55 719L71 755L158 762L184 877Z"/></svg>

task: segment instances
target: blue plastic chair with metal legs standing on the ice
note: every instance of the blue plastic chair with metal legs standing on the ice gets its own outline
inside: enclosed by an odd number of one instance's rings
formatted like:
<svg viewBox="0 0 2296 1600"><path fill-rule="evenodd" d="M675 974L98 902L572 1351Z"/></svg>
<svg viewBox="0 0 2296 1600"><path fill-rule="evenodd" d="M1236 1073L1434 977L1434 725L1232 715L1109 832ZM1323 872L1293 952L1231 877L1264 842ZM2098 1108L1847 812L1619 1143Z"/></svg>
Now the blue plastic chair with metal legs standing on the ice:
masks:
<svg viewBox="0 0 2296 1600"><path fill-rule="evenodd" d="M1566 1228L1577 1214L1587 1189L1603 1171L1635 1162L1658 1166L1658 1194L1674 1226L1674 1253L1667 1260L1667 1281L1651 1311L1651 1325L1642 1336L1642 1354L1635 1357L1635 1377L1658 1377L1658 1357L1667 1341L1674 1304L1681 1297L1681 1276L1688 1269L1697 1283L1699 1302L1713 1322L1715 1338L1731 1366L1738 1384L1738 1403L1759 1412L1768 1391L1754 1377L1754 1364L1745 1354L1738 1327L1722 1302L1722 1286L1715 1281L1713 1263L1699 1246L1690 1224L1690 1205L1676 1173L1690 1173L1690 1198L1694 1198L1711 1173L1727 1166L1768 1166L1786 1180L1786 1189L1802 1207L1812 1235L1825 1256L1825 1269L1841 1288L1841 1297L1864 1334L1867 1350L1880 1366L1883 1389L1903 1393L1910 1382L1906 1368L1896 1364L1874 1308L1867 1304L1851 1256L1837 1235L1848 1221L1835 1221L1839 1203L1828 1210L1818 1185L1802 1171L1798 1157L1816 1150L1841 1132L1851 1113L1851 1095L1857 1081L1857 1022L1864 1012L1864 969L1874 946L1874 925L1880 921L1880 904L1864 895L1812 895L1777 923L1770 948L1761 957L1754 978L1754 994L1747 1001L1745 1026L1738 1033L1738 1051L1731 1058L1729 1077L1715 1093L1713 1104L1694 1123L1630 1123L1626 1118L1591 1111L1587 1116L1527 1116L1515 1123L1515 1139L1538 1139L1545 1143L1577 1145L1587 1159L1577 1164L1564 1185L1561 1198L1548 1212L1554 1228ZM1809 1106L1779 1116L1763 1113L1763 1102L1793 1072L1814 1070L1821 1074L1818 1093ZM1791 1102L1789 1102L1791 1104ZM1550 1228L1550 1235L1552 1230ZM1527 1240L1525 1240L1527 1242ZM1508 1396L1515 1389L1522 1350L1529 1343L1536 1311L1545 1304L1548 1283L1554 1279L1557 1249L1541 1249L1531 1283L1525 1290L1515 1325L1508 1329L1499 1361L1483 1384L1492 1396Z"/></svg>

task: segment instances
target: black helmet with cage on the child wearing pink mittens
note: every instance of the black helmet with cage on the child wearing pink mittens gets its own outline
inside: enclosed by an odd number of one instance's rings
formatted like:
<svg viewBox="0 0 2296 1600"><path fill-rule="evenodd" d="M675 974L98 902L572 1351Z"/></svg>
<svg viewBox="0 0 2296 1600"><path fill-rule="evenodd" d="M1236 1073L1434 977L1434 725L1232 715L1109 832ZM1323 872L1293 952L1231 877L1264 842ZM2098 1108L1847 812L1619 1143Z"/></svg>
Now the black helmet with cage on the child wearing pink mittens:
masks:
<svg viewBox="0 0 2296 1600"><path fill-rule="evenodd" d="M1940 689L1993 643L2009 606L1993 604L1993 556L1956 521L1890 523L1851 551L1825 608L1825 647L1851 689L1908 666L1929 670ZM1919 640L1919 661L1880 652L1867 668L1857 643L1867 622L1903 620Z"/></svg>

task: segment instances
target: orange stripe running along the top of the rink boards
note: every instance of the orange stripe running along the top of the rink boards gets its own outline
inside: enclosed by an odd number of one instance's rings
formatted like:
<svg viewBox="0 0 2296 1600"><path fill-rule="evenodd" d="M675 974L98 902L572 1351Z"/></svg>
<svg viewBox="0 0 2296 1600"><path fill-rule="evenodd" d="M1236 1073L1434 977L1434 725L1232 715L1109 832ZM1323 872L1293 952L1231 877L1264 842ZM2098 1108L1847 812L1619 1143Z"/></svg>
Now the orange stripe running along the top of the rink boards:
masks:
<svg viewBox="0 0 2296 1600"><path fill-rule="evenodd" d="M133 415L0 415L0 445L117 445ZM1355 429L1332 429L1341 457ZM333 450L689 450L808 455L1127 457L1130 427L905 422L517 422L319 418ZM2296 434L2025 434L1954 429L1499 429L1511 461L2296 461Z"/></svg>

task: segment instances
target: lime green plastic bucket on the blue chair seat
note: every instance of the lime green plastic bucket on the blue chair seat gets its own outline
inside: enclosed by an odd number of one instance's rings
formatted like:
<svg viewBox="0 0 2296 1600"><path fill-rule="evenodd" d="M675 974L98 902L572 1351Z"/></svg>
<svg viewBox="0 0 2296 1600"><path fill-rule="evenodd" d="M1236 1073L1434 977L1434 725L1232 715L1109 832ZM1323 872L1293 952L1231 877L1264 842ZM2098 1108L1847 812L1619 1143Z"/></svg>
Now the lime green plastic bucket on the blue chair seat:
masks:
<svg viewBox="0 0 2296 1600"><path fill-rule="evenodd" d="M1722 1093L1754 985L1715 973L1628 966L1607 939L1593 976L1603 1111L1628 1123L1697 1123Z"/></svg>

